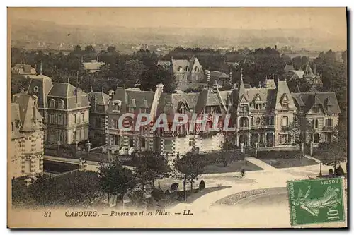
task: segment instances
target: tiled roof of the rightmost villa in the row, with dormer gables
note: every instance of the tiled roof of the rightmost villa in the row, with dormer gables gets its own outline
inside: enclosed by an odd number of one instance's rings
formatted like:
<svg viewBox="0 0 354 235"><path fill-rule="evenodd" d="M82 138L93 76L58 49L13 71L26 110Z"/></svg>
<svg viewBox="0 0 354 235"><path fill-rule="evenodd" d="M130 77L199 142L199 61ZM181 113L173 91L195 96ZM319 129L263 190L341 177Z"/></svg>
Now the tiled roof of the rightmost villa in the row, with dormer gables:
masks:
<svg viewBox="0 0 354 235"><path fill-rule="evenodd" d="M325 114L341 113L335 92L292 93L292 97L297 107L304 107L305 113L309 112L315 104L320 105ZM326 105L331 105L331 109L327 109Z"/></svg>

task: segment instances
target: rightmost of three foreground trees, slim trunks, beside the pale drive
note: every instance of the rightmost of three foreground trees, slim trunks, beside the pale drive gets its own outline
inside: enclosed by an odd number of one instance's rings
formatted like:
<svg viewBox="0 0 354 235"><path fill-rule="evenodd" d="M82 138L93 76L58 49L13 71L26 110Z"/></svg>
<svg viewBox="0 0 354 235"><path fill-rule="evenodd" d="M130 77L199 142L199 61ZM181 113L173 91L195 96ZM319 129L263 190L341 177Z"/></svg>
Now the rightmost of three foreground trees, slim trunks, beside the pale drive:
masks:
<svg viewBox="0 0 354 235"><path fill-rule="evenodd" d="M198 176L202 174L205 167L203 157L197 152L190 151L183 155L183 157L175 159L173 165L182 175L184 200L186 200L187 192L185 186L187 180L190 180L190 193L193 193L193 180L198 179Z"/></svg>

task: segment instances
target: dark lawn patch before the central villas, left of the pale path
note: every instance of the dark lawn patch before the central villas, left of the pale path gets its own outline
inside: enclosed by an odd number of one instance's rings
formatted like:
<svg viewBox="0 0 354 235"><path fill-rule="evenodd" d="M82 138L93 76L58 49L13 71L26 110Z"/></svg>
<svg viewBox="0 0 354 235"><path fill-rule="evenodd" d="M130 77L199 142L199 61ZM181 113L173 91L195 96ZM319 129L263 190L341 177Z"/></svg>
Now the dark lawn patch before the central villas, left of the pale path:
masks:
<svg viewBox="0 0 354 235"><path fill-rule="evenodd" d="M229 172L240 172L241 169L245 171L259 171L262 170L261 167L252 164L246 160L239 160L227 164L227 167L224 167L224 164L217 163L207 165L204 170L204 174L214 174L214 173L229 173Z"/></svg>

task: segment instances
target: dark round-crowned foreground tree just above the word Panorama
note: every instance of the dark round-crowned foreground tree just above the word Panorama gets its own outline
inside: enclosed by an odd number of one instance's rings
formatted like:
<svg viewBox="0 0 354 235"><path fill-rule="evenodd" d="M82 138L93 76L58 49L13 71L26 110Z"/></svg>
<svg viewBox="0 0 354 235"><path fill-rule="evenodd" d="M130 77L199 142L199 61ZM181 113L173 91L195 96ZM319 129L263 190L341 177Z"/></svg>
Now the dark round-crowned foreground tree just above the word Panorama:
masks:
<svg viewBox="0 0 354 235"><path fill-rule="evenodd" d="M108 195L117 195L116 206L123 203L123 197L130 189L136 185L132 171L123 167L118 159L115 159L108 166L101 165L99 169L101 187Z"/></svg>

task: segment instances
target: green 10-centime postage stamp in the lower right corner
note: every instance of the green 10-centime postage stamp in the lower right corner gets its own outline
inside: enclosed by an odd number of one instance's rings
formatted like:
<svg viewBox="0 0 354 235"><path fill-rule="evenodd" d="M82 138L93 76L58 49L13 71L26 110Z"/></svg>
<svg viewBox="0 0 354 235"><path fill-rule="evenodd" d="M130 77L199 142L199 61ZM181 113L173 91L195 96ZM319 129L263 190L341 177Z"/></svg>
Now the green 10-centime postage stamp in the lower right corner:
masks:
<svg viewBox="0 0 354 235"><path fill-rule="evenodd" d="M346 219L341 178L288 181L291 225Z"/></svg>

